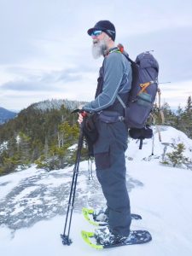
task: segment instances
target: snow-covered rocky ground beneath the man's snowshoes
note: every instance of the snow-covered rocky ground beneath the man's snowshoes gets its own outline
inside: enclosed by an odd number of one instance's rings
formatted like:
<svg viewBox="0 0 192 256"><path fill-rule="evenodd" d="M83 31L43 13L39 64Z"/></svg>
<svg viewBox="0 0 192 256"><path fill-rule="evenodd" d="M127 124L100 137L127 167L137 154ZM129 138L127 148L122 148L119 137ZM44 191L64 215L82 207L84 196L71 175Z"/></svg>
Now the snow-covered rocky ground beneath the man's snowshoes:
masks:
<svg viewBox="0 0 192 256"><path fill-rule="evenodd" d="M161 129L152 140L131 141L127 150L127 187L131 198L131 212L141 214L133 220L132 230L148 230L153 240L147 244L116 247L96 251L84 243L81 230L94 230L80 210L105 204L102 191L93 173L88 180L87 163L80 163L79 182L71 229L71 246L63 246L65 212L73 167L45 172L35 166L26 171L0 177L0 252L3 256L60 256L60 255L192 255L192 171L160 165L167 147L184 143L185 155L192 158L192 141L171 127ZM144 159L144 160L143 160Z"/></svg>

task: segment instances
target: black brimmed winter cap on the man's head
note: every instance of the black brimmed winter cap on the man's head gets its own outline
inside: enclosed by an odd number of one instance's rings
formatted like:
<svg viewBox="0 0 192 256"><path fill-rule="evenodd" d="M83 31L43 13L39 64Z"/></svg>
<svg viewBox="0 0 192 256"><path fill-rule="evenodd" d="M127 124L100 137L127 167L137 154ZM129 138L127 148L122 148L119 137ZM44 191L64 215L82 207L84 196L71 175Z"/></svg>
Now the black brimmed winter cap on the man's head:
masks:
<svg viewBox="0 0 192 256"><path fill-rule="evenodd" d="M115 27L113 25L113 23L111 23L109 20L100 20L96 23L96 25L92 28L90 28L87 32L89 35L92 34L92 32L96 31L96 30L101 30L103 32L106 32L108 34L108 36L110 38L112 38L112 40L115 40Z"/></svg>

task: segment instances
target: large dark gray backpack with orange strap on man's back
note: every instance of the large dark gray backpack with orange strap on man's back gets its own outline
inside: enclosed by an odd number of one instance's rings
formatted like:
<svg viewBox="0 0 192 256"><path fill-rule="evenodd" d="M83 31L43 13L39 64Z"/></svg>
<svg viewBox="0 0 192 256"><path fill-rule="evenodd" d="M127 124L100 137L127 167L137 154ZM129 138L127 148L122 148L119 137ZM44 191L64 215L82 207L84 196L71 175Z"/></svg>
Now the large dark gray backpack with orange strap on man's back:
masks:
<svg viewBox="0 0 192 256"><path fill-rule="evenodd" d="M123 46L119 44L118 47L131 62L132 83L127 104L120 96L117 98L125 109L125 123L130 128L129 134L132 138L140 139L139 148L142 148L143 139L153 136L153 131L149 131L146 123L158 91L159 64L148 51L137 55L136 61L132 61Z"/></svg>

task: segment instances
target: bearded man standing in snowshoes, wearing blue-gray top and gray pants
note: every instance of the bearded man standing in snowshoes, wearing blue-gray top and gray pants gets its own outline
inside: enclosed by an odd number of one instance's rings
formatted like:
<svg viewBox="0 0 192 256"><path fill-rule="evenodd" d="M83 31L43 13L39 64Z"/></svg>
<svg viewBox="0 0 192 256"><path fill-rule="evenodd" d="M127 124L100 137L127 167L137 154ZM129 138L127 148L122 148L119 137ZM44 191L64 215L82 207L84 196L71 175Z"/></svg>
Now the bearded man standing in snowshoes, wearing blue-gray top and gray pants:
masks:
<svg viewBox="0 0 192 256"><path fill-rule="evenodd" d="M115 47L116 36L113 23L100 20L88 30L93 40L94 58L104 57L98 79L96 98L82 108L84 112L96 113L99 137L93 145L96 160L96 176L101 183L107 201L105 212L96 211L96 220L104 217L108 226L96 230L96 240L101 244L115 244L129 239L131 225L130 200L125 181L125 150L127 127L123 120L124 108L117 96L126 103L131 90L131 64ZM79 114L79 123L83 120Z"/></svg>

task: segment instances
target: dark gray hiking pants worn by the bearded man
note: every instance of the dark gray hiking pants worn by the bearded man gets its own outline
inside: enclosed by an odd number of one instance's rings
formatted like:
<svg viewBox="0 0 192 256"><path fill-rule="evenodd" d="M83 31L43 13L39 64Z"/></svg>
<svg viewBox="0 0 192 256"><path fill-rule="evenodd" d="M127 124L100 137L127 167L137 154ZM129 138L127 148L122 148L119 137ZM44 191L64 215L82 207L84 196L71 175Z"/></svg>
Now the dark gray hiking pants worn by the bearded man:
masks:
<svg viewBox="0 0 192 256"><path fill-rule="evenodd" d="M96 176L108 206L108 224L113 234L128 236L131 225L130 200L125 180L127 128L123 122L97 121L99 138L94 145Z"/></svg>

